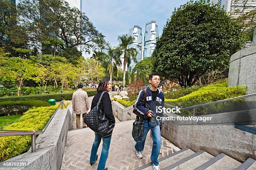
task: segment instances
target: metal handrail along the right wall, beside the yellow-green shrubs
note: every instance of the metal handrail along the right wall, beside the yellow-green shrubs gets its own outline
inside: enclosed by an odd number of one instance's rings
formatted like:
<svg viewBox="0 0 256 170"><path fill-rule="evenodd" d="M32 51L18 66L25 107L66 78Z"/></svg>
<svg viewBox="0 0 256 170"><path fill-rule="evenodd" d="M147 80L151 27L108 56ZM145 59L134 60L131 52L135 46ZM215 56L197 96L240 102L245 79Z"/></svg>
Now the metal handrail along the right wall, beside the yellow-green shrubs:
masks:
<svg viewBox="0 0 256 170"><path fill-rule="evenodd" d="M212 105L212 104L216 104L216 103L223 103L223 102L226 102L226 101L231 101L231 100L236 100L236 99L243 99L243 98L247 98L247 97L251 97L251 96L256 96L256 93L247 94L247 95L238 96L238 97L233 97L233 98L230 98L230 99L223 99L223 100L219 100L219 101L212 101L212 102L209 102L209 103L204 103L204 104L199 104L199 105L195 105L195 106L184 107L184 108L180 108L180 109L184 110L184 109L194 108L193 115L195 115L195 108L196 107L202 107L202 106ZM176 107L176 106L172 106L171 104L167 104L167 103L165 103L165 104L168 105L168 106L171 106L171 107Z"/></svg>

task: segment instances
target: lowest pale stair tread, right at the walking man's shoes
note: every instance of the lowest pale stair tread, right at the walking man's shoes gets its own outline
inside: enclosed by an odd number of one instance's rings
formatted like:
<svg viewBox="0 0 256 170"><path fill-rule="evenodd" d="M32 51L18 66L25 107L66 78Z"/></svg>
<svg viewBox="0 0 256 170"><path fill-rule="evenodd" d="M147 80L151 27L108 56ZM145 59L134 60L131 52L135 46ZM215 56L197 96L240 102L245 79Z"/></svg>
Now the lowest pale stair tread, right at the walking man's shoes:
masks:
<svg viewBox="0 0 256 170"><path fill-rule="evenodd" d="M162 157L159 159L160 168L162 169L163 167L171 165L172 163L175 163L193 153L195 152L186 147L182 150L172 153L171 155ZM146 165L138 167L135 170L152 170L152 163L148 163Z"/></svg>

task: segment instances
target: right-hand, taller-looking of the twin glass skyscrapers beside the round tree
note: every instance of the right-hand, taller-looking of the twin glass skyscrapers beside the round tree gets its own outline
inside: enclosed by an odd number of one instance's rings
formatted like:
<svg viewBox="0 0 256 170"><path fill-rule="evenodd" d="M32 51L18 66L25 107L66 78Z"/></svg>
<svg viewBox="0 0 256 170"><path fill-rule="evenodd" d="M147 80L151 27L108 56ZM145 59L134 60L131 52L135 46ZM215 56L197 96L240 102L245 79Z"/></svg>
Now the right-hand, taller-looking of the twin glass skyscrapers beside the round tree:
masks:
<svg viewBox="0 0 256 170"><path fill-rule="evenodd" d="M156 47L156 38L159 37L158 26L156 21L152 20L146 23L144 36L144 52L143 59L150 57Z"/></svg>

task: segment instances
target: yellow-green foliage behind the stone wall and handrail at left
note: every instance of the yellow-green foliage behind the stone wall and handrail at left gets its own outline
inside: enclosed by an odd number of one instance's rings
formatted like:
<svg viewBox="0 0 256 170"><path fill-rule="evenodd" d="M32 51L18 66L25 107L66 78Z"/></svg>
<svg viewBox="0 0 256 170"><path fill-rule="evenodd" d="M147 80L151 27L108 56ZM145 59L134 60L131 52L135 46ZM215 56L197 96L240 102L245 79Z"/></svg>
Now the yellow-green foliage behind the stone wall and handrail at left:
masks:
<svg viewBox="0 0 256 170"><path fill-rule="evenodd" d="M58 106L29 109L18 122L3 127L3 130L42 130ZM27 152L31 135L0 137L0 161Z"/></svg>

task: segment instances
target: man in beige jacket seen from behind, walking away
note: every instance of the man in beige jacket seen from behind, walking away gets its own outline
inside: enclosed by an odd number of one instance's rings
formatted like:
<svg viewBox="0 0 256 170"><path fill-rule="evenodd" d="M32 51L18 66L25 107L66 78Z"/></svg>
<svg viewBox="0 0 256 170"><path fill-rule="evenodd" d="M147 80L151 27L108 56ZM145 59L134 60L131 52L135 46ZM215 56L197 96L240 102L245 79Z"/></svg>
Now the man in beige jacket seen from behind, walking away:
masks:
<svg viewBox="0 0 256 170"><path fill-rule="evenodd" d="M80 129L80 114L82 114L84 121L84 116L87 110L89 110L89 101L87 92L82 90L83 85L78 84L77 88L77 91L75 91L72 96L72 106L74 114L76 114L77 129ZM84 122L83 127L86 127Z"/></svg>

